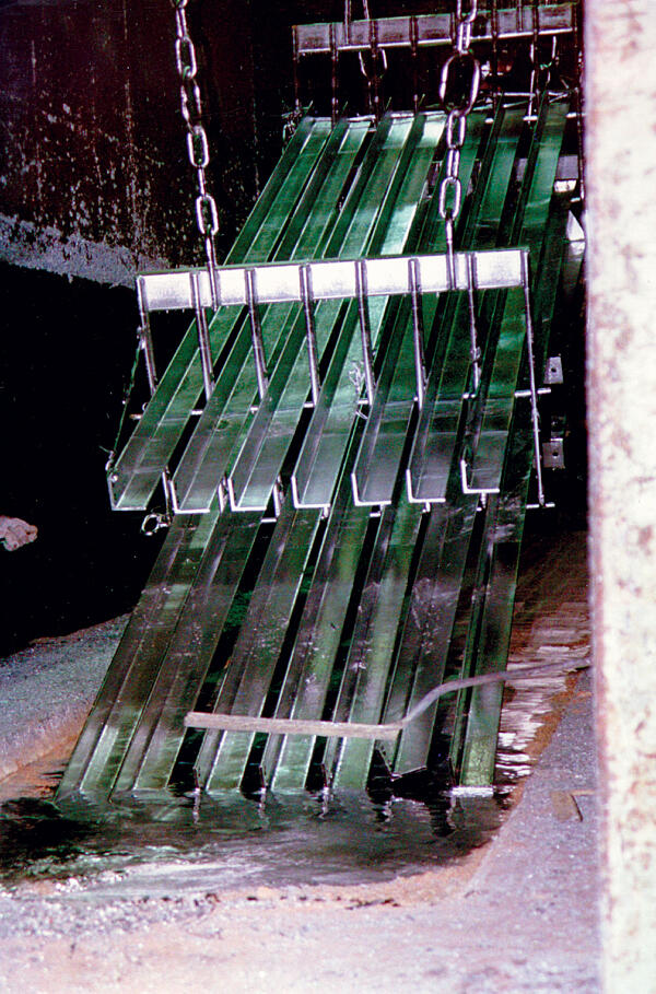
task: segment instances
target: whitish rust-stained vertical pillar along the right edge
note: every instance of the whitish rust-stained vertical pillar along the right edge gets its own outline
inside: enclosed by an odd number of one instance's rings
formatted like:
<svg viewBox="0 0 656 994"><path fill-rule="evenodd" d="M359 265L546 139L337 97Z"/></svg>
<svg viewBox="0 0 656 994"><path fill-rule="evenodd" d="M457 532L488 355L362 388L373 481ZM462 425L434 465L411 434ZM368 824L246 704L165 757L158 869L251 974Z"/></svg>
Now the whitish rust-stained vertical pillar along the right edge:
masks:
<svg viewBox="0 0 656 994"><path fill-rule="evenodd" d="M656 7L586 0L604 979L656 991Z"/></svg>

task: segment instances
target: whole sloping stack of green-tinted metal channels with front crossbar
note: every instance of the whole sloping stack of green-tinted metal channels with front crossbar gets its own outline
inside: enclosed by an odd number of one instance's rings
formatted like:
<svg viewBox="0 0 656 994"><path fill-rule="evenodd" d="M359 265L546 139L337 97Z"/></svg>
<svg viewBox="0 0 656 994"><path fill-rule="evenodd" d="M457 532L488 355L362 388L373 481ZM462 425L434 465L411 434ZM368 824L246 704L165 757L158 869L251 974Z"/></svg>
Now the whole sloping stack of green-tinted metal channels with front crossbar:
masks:
<svg viewBox="0 0 656 994"><path fill-rule="evenodd" d="M385 741L187 716L395 722L449 675L504 668L567 261L567 109L470 115L450 260L444 115L308 118L216 273L209 319L202 270L140 278L149 336L162 308L197 320L152 376L109 488L116 508L147 508L164 473L176 513L60 798L165 797L185 770L221 797L254 770L279 795L317 771L363 791L375 758L391 777L431 764L437 702ZM501 694L452 698L462 784L491 783Z"/></svg>

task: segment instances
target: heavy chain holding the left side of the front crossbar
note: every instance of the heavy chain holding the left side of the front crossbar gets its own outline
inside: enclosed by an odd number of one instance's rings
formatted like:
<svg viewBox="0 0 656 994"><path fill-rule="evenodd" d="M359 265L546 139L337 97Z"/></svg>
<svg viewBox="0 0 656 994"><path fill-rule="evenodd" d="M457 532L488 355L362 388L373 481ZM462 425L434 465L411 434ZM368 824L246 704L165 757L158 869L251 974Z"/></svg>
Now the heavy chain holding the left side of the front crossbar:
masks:
<svg viewBox="0 0 656 994"><path fill-rule="evenodd" d="M214 308L219 306L216 285L216 249L214 237L219 231L216 201L207 187L206 169L210 163L208 136L202 122L202 104L197 81L198 61L196 48L187 24L189 0L172 0L175 9L175 65L180 78L180 109L187 127L187 154L196 169L198 197L196 198L196 223L203 241L210 291Z"/></svg>

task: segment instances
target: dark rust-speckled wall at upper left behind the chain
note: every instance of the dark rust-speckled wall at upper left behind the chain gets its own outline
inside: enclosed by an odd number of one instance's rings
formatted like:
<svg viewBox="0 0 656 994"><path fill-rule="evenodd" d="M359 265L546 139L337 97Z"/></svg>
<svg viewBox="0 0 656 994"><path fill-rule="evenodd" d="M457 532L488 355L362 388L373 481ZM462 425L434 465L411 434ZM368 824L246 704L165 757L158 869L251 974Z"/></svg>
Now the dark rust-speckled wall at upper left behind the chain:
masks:
<svg viewBox="0 0 656 994"><path fill-rule="evenodd" d="M227 245L256 194L250 4L190 4ZM0 10L0 258L104 282L191 264L195 178L161 0Z"/></svg>

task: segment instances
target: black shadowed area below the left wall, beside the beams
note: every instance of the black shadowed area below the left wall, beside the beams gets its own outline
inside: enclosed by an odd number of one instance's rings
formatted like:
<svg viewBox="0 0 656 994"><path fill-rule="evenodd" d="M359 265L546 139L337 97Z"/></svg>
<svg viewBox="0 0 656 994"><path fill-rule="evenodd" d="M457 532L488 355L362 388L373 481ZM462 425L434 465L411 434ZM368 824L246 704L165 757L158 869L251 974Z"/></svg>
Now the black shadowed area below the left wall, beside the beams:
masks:
<svg viewBox="0 0 656 994"><path fill-rule="evenodd" d="M159 539L109 508L104 466L134 356L134 294L0 267L0 513L39 536L0 549L0 655L129 610Z"/></svg>

